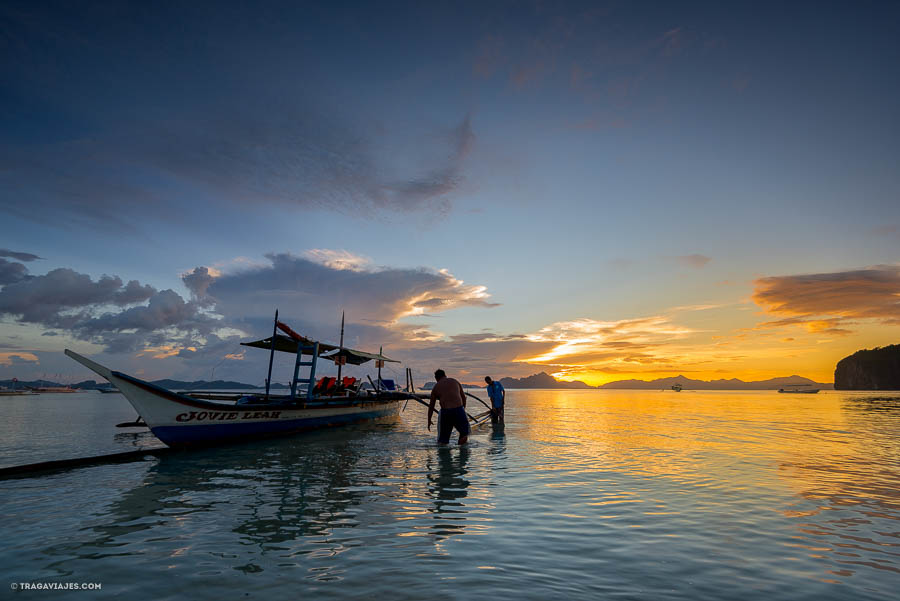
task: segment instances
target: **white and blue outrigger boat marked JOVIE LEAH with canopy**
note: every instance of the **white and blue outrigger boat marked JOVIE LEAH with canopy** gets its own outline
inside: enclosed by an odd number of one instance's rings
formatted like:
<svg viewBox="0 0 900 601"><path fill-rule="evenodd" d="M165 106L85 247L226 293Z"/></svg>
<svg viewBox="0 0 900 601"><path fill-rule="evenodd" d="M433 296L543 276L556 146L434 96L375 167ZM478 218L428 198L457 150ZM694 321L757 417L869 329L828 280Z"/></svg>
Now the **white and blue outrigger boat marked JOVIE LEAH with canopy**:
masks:
<svg viewBox="0 0 900 601"><path fill-rule="evenodd" d="M74 351L66 349L65 352L109 380L128 399L140 417L125 425L143 425L140 423L143 419L150 431L170 447L211 445L376 420L397 415L401 401L424 403L422 397L413 392L410 370L406 372L407 391L396 390L392 381L382 380L381 368L385 363L399 361L386 357L381 351L370 353L344 347L343 323L341 345L335 346L297 334L278 321L276 311L270 338L241 344L270 351L265 395L174 392L113 371ZM286 395L269 393L275 351L296 357L290 393ZM320 359L333 361L338 366L337 378L316 380ZM378 367L378 379L373 382L368 378L371 387L364 386L356 378L341 379L343 365L362 365L372 360ZM309 368L307 377L299 377L301 367ZM483 420L484 415L470 416L470 419L480 423L479 419Z"/></svg>

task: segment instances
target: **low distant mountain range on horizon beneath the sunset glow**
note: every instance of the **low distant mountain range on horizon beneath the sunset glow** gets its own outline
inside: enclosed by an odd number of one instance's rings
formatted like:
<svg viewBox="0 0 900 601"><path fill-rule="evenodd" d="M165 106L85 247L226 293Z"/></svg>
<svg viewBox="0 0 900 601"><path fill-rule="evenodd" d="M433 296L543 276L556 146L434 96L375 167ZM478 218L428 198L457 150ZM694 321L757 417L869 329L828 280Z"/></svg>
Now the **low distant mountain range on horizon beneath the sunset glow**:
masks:
<svg viewBox="0 0 900 601"><path fill-rule="evenodd" d="M729 380L693 380L683 375L669 378L657 378L656 380L617 380L615 382L607 382L600 386L591 386L580 380L566 382L557 380L548 373L541 372L525 378L502 378L500 383L504 388L549 388L549 389L590 389L590 388L614 388L614 389L631 389L631 390L659 390L669 388L674 384L681 384L685 390L778 390L788 384L812 384L819 388L830 389L831 384L823 384L814 382L809 378L802 376L787 376L781 378L771 378L769 380L758 380L755 382L744 382L737 378Z"/></svg>

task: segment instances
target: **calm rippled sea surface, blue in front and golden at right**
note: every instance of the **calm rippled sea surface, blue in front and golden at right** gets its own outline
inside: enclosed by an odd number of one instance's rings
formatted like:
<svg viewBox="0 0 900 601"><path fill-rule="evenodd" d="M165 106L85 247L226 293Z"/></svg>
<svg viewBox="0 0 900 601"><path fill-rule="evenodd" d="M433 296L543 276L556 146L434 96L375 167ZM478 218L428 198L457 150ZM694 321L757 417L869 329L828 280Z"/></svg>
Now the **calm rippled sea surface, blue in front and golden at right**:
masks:
<svg viewBox="0 0 900 601"><path fill-rule="evenodd" d="M893 599L900 394L509 391L395 421L0 481L18 597ZM0 402L4 465L154 446L119 395Z"/></svg>

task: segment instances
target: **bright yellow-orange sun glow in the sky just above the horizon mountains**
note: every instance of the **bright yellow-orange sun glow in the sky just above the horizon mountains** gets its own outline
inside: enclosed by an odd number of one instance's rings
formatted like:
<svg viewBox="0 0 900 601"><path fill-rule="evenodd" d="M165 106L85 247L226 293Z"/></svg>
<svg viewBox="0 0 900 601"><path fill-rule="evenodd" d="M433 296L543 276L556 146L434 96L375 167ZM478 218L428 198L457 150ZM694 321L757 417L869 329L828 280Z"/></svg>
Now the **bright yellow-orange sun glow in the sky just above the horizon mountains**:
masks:
<svg viewBox="0 0 900 601"><path fill-rule="evenodd" d="M810 328L808 323L789 324L792 335L785 336L784 328L735 328L736 319L728 311L697 324L702 327L664 317L560 322L528 337L553 343L549 350L516 362L533 368L532 373L545 371L557 380L591 386L679 375L745 382L800 375L830 383L841 358L884 344L884 328L875 323L859 324L855 336Z"/></svg>

